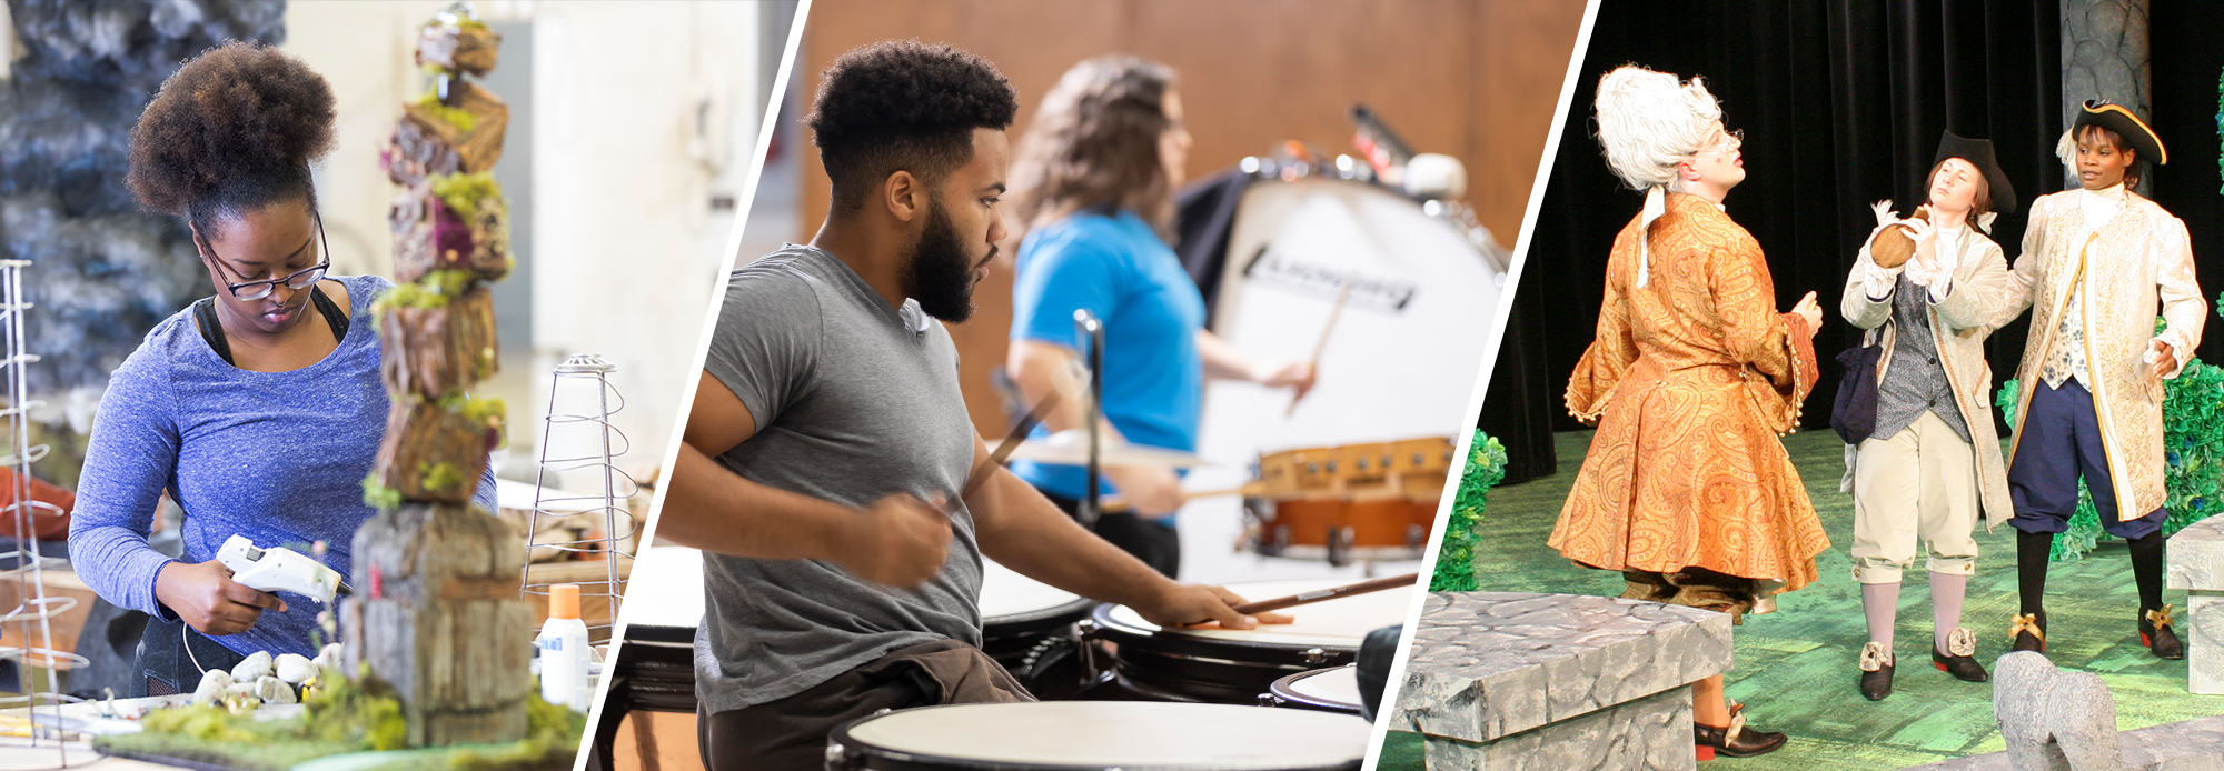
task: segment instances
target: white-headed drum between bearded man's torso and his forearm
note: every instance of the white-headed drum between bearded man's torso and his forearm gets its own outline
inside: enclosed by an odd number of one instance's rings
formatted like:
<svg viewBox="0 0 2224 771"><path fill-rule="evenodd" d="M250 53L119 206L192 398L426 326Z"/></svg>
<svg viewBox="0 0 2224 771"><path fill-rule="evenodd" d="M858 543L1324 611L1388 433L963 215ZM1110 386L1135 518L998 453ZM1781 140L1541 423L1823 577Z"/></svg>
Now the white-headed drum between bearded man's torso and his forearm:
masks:
<svg viewBox="0 0 2224 771"><path fill-rule="evenodd" d="M1088 684L1079 622L1094 600L981 560L981 651L1039 700L1065 700Z"/></svg>

